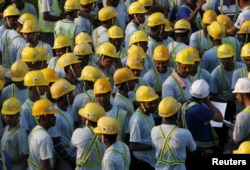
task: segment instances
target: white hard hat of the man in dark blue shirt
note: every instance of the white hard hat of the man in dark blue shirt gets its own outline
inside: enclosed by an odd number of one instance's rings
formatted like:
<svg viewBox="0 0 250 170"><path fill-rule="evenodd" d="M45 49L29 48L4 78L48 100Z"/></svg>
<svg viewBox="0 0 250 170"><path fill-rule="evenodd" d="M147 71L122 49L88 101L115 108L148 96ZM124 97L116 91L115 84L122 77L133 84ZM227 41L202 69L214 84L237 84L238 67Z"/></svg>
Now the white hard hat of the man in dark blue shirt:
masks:
<svg viewBox="0 0 250 170"><path fill-rule="evenodd" d="M195 98L206 98L209 93L209 85L204 79L195 80L190 87L190 95Z"/></svg>

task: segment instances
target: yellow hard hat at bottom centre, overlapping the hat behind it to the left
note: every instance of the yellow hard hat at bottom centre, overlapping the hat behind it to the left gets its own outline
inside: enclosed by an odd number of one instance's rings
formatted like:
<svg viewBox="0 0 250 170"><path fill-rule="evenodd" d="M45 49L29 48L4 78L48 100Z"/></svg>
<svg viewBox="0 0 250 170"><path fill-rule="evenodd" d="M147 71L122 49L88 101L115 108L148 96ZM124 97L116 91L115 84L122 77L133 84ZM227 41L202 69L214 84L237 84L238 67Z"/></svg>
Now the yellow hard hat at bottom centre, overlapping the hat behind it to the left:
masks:
<svg viewBox="0 0 250 170"><path fill-rule="evenodd" d="M114 135L119 133L119 122L112 117L101 117L94 132L97 134Z"/></svg>

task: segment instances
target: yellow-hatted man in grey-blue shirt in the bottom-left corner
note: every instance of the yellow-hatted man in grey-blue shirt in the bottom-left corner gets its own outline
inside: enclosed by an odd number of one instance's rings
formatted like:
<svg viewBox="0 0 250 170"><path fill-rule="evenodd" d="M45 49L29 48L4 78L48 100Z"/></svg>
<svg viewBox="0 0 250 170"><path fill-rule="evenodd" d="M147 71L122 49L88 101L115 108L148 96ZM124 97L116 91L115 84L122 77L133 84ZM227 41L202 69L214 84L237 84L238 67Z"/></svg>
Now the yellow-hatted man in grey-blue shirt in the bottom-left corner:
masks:
<svg viewBox="0 0 250 170"><path fill-rule="evenodd" d="M1 151L6 151L11 160L11 169L27 169L26 160L29 154L28 135L19 123L21 102L11 97L3 102L1 113L7 126L1 138Z"/></svg>

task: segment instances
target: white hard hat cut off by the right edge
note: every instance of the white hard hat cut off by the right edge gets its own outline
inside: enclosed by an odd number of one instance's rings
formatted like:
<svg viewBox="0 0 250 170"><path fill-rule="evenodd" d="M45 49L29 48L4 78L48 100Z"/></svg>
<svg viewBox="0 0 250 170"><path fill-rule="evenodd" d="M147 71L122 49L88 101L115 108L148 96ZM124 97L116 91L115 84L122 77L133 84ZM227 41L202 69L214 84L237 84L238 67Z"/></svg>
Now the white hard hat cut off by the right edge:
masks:
<svg viewBox="0 0 250 170"><path fill-rule="evenodd" d="M235 84L233 93L250 93L250 79L239 78Z"/></svg>

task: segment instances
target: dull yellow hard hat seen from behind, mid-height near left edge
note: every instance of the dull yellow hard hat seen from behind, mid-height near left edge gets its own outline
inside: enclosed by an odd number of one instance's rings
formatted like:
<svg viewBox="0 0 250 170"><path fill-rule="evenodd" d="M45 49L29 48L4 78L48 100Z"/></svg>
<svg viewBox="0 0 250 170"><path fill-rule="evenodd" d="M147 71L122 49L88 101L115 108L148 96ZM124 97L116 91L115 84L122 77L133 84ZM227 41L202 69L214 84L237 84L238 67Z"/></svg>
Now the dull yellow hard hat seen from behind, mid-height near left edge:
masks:
<svg viewBox="0 0 250 170"><path fill-rule="evenodd" d="M14 82L20 82L24 80L24 76L29 72L28 65L18 60L14 62L10 67L10 78Z"/></svg>

